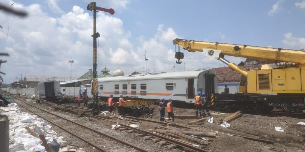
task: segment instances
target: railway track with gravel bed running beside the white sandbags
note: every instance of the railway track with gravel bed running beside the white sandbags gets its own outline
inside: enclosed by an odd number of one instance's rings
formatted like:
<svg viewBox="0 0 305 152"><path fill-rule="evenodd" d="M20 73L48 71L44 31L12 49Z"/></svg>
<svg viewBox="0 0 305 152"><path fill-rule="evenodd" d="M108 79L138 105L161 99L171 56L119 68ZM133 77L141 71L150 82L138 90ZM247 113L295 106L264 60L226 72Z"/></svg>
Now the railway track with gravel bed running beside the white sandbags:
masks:
<svg viewBox="0 0 305 152"><path fill-rule="evenodd" d="M66 131L66 132L70 133L71 135L77 137L78 139L84 141L85 143L88 143L92 147L95 147L95 149L97 149L97 150L106 152L106 150L110 149L110 148L126 146L126 147L134 148L135 150L138 150L140 152L148 152L147 150L145 150L141 147L137 147L135 145L132 145L131 143L127 143L127 142L120 140L118 138L115 138L113 136L109 136L105 133L102 133L102 132L95 130L93 128L90 128L88 126L84 126L84 125L77 123L75 121L72 121L70 119L64 118L64 117L54 114L52 112L48 112L44 109L38 108L34 105L31 105L27 102L20 100L18 97L14 97L14 98L16 98L18 101L20 101L20 102L15 101L15 103L17 103L24 109L27 109L28 111L34 113L35 115L41 117L42 119L47 120L48 122L59 127L60 129ZM22 105L20 103L22 103ZM34 112L32 110L32 108L39 109L41 111L41 114ZM48 118L46 118L46 117L48 117ZM51 119L54 119L55 121L51 120ZM60 119L60 121L59 121L59 119ZM63 127L63 126L65 126L65 127ZM82 129L80 129L80 127ZM81 130L81 131L77 132L77 133L73 133L71 130ZM98 135L96 135L96 134L98 134ZM97 138L92 138L93 135L95 137L98 137L99 140L97 140ZM108 140L105 140L105 138L108 138ZM115 142L113 142L112 140ZM115 145L115 146L104 148L103 146L105 146L105 145Z"/></svg>

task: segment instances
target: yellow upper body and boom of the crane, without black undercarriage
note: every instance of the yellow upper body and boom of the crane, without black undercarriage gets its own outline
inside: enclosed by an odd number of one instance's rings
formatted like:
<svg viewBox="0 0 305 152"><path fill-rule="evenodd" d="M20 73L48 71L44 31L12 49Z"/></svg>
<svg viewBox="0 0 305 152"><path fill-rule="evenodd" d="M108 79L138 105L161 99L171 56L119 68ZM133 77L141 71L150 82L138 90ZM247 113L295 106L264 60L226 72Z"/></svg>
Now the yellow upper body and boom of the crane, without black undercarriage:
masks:
<svg viewBox="0 0 305 152"><path fill-rule="evenodd" d="M305 93L305 51L182 39L175 39L173 43L189 52L203 52L205 56L214 57L238 71L247 77L249 93ZM260 70L246 71L226 60L225 55L274 61L279 69L266 64ZM245 92L245 83L241 81L240 92Z"/></svg>

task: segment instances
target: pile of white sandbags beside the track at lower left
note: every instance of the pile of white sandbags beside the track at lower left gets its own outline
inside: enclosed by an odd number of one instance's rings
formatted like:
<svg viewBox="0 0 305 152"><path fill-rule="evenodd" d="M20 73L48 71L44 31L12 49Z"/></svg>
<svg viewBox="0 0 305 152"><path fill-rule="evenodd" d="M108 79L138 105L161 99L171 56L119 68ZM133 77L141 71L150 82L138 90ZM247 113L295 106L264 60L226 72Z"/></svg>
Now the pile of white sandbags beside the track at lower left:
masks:
<svg viewBox="0 0 305 152"><path fill-rule="evenodd" d="M0 113L7 115L9 118L9 148L10 151L41 151L45 152L45 147L41 146L42 141L36 138L25 129L29 127L34 129L40 127L41 133L45 136L47 143L56 139L59 144L64 143L63 137L57 137L57 133L45 123L45 120L37 118L27 112L21 112L16 103L9 104L7 107L0 107Z"/></svg>

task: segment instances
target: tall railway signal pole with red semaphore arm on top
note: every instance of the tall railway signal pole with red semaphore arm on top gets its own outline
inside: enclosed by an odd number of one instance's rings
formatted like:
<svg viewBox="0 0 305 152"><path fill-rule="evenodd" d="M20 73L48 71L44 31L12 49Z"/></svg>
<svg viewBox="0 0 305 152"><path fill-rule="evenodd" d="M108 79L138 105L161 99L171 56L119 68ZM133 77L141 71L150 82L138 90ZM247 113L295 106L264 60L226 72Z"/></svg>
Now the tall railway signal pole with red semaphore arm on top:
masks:
<svg viewBox="0 0 305 152"><path fill-rule="evenodd" d="M96 48L96 39L100 36L98 32L96 32L96 10L109 12L111 15L114 14L113 9L104 9L101 7L95 6L95 2L91 2L87 6L87 10L93 11L93 83L92 83L92 95L93 95L93 108L92 114L99 114L98 110L98 86L97 86L97 48Z"/></svg>

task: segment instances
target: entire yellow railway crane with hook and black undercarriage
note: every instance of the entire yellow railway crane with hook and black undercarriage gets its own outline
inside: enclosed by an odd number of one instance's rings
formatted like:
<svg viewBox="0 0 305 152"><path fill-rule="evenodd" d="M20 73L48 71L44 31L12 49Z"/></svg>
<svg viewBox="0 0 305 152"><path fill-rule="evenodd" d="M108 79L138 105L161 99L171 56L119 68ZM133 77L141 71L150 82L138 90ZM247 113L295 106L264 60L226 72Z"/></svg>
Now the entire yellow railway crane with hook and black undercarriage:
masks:
<svg viewBox="0 0 305 152"><path fill-rule="evenodd" d="M214 94L216 107L260 111L277 107L295 112L305 109L305 51L182 39L173 43L189 52L203 52L242 74L239 92L244 94ZM260 70L246 71L226 60L225 55L274 61L278 68L265 64ZM183 56L176 52L176 63L181 63Z"/></svg>

